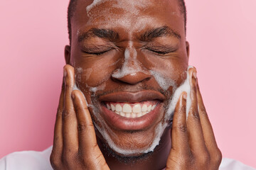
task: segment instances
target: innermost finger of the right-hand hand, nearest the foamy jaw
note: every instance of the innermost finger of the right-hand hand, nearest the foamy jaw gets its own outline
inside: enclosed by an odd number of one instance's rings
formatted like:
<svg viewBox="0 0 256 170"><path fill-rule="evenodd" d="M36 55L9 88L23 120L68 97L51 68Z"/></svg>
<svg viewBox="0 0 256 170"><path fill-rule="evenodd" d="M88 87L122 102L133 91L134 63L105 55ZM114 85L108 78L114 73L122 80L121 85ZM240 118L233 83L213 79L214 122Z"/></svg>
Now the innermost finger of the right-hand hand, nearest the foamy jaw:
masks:
<svg viewBox="0 0 256 170"><path fill-rule="evenodd" d="M171 148L180 152L182 155L190 154L186 125L186 95L183 92L178 99L171 128Z"/></svg>

